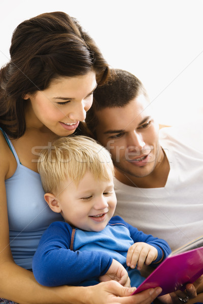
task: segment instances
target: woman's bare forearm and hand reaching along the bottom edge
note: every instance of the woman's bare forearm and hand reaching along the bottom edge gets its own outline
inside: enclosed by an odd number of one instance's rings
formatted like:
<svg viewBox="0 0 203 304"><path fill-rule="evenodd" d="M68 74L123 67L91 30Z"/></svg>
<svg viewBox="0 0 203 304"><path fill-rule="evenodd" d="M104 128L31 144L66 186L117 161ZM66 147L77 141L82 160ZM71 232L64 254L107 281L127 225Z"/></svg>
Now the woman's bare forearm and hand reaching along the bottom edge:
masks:
<svg viewBox="0 0 203 304"><path fill-rule="evenodd" d="M113 280L89 287L44 287L36 282L31 272L13 266L5 263L0 294L20 304L150 304L161 291L160 288L149 289L130 296L133 288L125 288ZM8 280L2 280L2 274L7 274Z"/></svg>

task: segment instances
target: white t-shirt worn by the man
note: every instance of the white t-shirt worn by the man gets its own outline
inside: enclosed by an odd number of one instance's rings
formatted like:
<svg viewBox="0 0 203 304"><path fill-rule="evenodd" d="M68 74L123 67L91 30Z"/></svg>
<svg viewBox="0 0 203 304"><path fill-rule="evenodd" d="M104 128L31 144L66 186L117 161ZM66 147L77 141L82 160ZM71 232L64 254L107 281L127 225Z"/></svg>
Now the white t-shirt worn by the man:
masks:
<svg viewBox="0 0 203 304"><path fill-rule="evenodd" d="M172 250L203 235L203 126L193 129L190 134L184 127L160 130L160 144L170 162L164 187L137 188L114 180L115 215L166 240Z"/></svg>

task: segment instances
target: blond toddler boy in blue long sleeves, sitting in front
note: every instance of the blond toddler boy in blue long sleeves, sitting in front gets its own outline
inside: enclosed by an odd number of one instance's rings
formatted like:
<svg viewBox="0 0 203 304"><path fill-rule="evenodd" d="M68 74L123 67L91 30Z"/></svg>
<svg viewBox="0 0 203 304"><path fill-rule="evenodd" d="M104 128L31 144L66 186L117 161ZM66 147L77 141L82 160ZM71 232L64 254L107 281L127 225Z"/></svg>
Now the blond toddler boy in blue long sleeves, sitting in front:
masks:
<svg viewBox="0 0 203 304"><path fill-rule="evenodd" d="M138 287L143 264L157 266L171 252L164 240L113 217L113 163L93 139L57 139L42 150L38 168L46 202L64 218L48 227L33 257L40 284L88 286L113 279Z"/></svg>

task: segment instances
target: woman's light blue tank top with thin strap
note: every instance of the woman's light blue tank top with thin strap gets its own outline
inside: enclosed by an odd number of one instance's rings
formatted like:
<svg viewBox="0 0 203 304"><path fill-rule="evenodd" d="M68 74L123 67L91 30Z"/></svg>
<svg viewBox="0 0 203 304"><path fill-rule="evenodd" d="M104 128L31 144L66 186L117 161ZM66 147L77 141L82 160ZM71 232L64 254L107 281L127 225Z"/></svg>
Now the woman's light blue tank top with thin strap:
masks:
<svg viewBox="0 0 203 304"><path fill-rule="evenodd" d="M11 251L16 264L31 269L42 234L50 223L63 219L45 202L40 174L20 164L12 142L2 132L17 161L15 173L5 180Z"/></svg>

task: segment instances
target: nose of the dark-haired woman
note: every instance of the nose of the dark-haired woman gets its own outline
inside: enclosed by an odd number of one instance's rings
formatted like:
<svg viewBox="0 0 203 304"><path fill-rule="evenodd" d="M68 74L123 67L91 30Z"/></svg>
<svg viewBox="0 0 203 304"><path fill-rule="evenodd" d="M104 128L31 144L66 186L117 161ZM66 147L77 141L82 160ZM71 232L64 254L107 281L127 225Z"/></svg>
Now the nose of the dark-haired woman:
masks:
<svg viewBox="0 0 203 304"><path fill-rule="evenodd" d="M73 122L77 121L84 121L86 118L86 112L91 107L92 102L86 102L85 100L82 100L80 102L76 102L75 106L72 108L72 111L69 113L69 118Z"/></svg>

